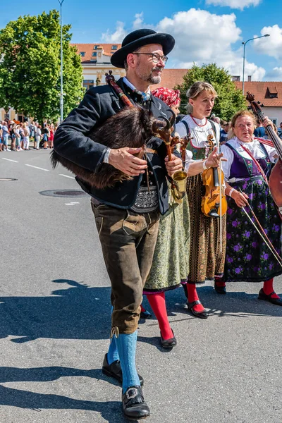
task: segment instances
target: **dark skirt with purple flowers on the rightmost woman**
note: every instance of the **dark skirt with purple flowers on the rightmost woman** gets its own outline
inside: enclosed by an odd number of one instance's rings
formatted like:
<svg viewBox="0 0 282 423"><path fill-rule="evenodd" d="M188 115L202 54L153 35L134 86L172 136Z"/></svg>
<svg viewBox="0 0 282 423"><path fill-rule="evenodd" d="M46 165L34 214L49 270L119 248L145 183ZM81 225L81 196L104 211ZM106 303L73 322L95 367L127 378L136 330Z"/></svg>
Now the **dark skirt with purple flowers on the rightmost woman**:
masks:
<svg viewBox="0 0 282 423"><path fill-rule="evenodd" d="M281 219L262 176L247 178L230 185L248 195L250 207L272 245L281 255ZM249 207L245 207L245 210L255 222ZM282 268L269 247L252 226L243 209L240 209L231 197L228 197L226 230L224 281L261 282L282 274Z"/></svg>

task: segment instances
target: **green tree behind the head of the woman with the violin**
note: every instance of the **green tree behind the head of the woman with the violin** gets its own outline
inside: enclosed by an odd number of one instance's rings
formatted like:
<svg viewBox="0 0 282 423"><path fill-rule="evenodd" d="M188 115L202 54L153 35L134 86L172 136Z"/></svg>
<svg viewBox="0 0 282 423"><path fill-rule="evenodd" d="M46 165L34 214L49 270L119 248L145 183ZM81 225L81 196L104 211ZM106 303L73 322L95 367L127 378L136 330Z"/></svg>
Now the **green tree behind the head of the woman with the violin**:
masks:
<svg viewBox="0 0 282 423"><path fill-rule="evenodd" d="M209 82L216 90L218 97L212 109L216 116L230 121L236 111L247 108L243 92L235 87L231 75L224 68L218 68L215 63L202 67L194 64L184 75L183 84L176 87L180 90L182 104L187 104L186 92L196 81Z"/></svg>

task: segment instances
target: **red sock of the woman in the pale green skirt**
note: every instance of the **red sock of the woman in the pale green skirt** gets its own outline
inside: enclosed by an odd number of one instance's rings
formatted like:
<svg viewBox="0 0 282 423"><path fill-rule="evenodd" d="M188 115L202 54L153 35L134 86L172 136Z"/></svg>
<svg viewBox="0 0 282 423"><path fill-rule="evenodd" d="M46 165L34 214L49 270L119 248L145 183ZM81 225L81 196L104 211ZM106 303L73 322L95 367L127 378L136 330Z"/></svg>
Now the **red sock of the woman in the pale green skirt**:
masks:
<svg viewBox="0 0 282 423"><path fill-rule="evenodd" d="M154 315L158 319L161 336L163 339L173 338L173 331L171 330L171 325L168 322L166 312L166 297L164 293L148 294L147 299L154 312Z"/></svg>

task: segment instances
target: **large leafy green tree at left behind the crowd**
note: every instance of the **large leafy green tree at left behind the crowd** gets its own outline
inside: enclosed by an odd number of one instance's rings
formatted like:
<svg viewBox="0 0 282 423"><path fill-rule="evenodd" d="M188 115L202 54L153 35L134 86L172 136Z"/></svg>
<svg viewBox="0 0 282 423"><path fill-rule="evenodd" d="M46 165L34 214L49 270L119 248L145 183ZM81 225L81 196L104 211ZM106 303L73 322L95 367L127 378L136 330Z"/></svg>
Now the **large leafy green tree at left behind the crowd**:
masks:
<svg viewBox="0 0 282 423"><path fill-rule="evenodd" d="M82 66L63 25L63 97L66 116L82 99ZM56 10L23 16L0 30L0 107L38 121L60 116L61 28Z"/></svg>

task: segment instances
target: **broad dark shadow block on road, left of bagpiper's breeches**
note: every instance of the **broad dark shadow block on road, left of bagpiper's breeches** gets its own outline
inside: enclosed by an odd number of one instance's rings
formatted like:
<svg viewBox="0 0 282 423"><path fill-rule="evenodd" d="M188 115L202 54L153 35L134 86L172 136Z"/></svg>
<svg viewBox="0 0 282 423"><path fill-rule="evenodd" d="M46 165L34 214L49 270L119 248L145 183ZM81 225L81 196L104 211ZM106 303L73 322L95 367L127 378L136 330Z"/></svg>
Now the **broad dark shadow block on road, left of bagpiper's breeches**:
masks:
<svg viewBox="0 0 282 423"><path fill-rule="evenodd" d="M25 343L37 338L106 339L111 330L111 288L92 288L68 279L71 286L49 297L1 297L0 338Z"/></svg>

